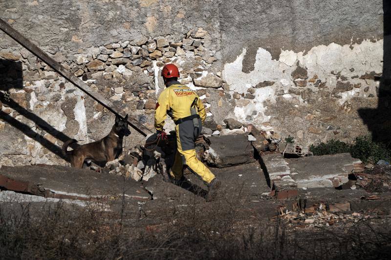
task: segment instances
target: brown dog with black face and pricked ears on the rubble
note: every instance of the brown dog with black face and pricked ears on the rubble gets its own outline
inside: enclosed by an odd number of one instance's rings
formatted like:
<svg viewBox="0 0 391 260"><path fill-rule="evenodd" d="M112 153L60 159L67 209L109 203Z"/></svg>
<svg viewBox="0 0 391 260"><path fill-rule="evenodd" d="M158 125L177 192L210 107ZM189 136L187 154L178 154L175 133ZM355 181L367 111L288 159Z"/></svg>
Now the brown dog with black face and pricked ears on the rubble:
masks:
<svg viewBox="0 0 391 260"><path fill-rule="evenodd" d="M72 151L67 151L67 148L77 141L75 139L65 141L62 147L63 154L70 156L72 167L77 169L82 169L85 161L88 164L93 161L99 166L105 166L107 162L118 158L122 152L123 138L130 135L127 121L128 115L125 119L117 115L115 124L106 137L93 143L77 145Z"/></svg>

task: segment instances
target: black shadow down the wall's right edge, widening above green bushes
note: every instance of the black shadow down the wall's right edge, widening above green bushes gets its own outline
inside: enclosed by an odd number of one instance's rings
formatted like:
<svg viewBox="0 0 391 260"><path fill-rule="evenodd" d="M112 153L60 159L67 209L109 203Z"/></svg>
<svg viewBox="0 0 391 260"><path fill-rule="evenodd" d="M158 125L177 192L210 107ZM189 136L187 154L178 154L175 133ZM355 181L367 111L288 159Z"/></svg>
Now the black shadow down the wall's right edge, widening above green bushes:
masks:
<svg viewBox="0 0 391 260"><path fill-rule="evenodd" d="M383 0L383 74L379 88L378 107L358 110L363 122L372 133L372 140L391 147L391 1Z"/></svg>

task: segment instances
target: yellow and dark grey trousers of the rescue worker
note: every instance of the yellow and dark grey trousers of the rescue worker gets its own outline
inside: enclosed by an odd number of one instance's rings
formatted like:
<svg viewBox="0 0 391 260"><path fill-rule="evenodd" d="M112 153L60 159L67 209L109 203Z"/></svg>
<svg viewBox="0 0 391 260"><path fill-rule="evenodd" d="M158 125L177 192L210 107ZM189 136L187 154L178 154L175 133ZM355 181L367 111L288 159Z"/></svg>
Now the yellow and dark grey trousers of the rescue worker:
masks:
<svg viewBox="0 0 391 260"><path fill-rule="evenodd" d="M175 131L177 151L174 165L170 170L171 176L174 179L180 179L183 175L183 164L186 164L203 181L210 183L215 175L195 156L195 139L198 137L198 131L200 130L194 128L192 121L187 121L175 126Z"/></svg>

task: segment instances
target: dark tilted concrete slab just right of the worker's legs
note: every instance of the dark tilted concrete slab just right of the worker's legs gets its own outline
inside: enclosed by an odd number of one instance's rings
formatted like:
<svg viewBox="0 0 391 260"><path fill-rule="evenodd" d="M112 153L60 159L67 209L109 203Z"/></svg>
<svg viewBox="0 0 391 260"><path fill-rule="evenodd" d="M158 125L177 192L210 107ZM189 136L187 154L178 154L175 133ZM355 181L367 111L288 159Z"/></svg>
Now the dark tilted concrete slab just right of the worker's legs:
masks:
<svg viewBox="0 0 391 260"><path fill-rule="evenodd" d="M208 142L210 145L205 159L213 167L224 168L255 161L254 149L244 134L210 136Z"/></svg>

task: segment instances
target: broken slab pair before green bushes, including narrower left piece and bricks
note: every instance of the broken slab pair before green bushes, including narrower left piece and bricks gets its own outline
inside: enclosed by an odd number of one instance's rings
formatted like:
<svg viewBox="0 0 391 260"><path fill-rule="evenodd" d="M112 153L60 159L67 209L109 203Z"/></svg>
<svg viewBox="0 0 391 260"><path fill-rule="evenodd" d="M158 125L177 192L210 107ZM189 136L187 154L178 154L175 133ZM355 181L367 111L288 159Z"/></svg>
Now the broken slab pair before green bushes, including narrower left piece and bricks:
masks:
<svg viewBox="0 0 391 260"><path fill-rule="evenodd" d="M349 174L363 172L360 160L349 153L284 159L281 153L261 154L261 166L277 198L297 195L297 189L338 188ZM349 186L350 187L350 186ZM349 188L348 187L348 188Z"/></svg>

